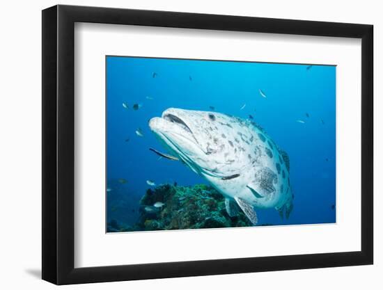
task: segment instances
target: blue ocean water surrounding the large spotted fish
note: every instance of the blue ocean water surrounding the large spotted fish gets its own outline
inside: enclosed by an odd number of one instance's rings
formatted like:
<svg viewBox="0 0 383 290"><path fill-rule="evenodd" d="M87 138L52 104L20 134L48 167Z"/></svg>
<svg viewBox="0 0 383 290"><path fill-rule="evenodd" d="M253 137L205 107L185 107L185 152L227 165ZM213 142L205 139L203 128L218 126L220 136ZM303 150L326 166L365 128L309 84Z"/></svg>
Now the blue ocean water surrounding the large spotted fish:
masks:
<svg viewBox="0 0 383 290"><path fill-rule="evenodd" d="M262 223L336 222L335 66L125 56L107 56L107 221L136 223L148 179L207 183L149 151L164 150L148 120L170 107L251 115L288 153L294 209L289 219L257 210Z"/></svg>

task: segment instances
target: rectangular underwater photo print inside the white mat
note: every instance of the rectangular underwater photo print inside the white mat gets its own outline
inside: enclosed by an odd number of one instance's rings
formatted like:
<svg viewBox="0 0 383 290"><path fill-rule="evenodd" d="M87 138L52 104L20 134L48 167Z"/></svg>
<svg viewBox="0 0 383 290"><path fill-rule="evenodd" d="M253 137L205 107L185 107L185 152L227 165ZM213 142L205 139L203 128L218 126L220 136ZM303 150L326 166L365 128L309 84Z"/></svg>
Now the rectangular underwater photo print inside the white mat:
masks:
<svg viewBox="0 0 383 290"><path fill-rule="evenodd" d="M336 223L336 66L106 56L107 232Z"/></svg>

